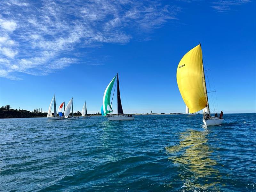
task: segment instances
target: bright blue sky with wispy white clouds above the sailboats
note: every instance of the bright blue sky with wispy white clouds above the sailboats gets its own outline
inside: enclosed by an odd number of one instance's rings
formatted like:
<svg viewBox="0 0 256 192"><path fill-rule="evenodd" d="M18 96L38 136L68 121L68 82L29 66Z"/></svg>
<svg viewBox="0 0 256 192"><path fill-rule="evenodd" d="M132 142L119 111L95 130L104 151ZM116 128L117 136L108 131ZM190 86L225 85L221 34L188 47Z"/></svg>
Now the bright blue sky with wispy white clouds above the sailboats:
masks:
<svg viewBox="0 0 256 192"><path fill-rule="evenodd" d="M2 0L0 8L1 106L47 111L56 93L57 105L73 96L76 111L86 100L95 113L118 72L124 112L184 112L176 69L201 42L216 90L210 107L256 112L256 1Z"/></svg>

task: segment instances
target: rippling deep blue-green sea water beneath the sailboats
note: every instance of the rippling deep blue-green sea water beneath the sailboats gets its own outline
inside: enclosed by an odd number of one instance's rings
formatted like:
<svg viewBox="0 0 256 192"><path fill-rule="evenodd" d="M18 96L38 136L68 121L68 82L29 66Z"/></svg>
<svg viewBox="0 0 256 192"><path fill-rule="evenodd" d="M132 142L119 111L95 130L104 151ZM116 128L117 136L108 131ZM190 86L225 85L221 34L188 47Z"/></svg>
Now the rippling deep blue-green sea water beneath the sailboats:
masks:
<svg viewBox="0 0 256 192"><path fill-rule="evenodd" d="M0 191L256 191L256 114L0 120Z"/></svg>

